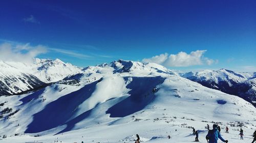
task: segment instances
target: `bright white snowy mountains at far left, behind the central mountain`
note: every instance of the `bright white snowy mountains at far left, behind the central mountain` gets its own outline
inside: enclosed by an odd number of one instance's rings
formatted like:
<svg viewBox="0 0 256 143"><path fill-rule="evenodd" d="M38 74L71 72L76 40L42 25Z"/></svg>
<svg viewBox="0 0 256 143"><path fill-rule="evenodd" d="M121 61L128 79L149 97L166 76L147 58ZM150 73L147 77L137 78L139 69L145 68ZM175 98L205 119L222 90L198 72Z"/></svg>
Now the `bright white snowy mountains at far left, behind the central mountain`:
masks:
<svg viewBox="0 0 256 143"><path fill-rule="evenodd" d="M33 64L0 61L0 67L0 96L44 87L46 83L82 72L81 68L58 59L34 59Z"/></svg>

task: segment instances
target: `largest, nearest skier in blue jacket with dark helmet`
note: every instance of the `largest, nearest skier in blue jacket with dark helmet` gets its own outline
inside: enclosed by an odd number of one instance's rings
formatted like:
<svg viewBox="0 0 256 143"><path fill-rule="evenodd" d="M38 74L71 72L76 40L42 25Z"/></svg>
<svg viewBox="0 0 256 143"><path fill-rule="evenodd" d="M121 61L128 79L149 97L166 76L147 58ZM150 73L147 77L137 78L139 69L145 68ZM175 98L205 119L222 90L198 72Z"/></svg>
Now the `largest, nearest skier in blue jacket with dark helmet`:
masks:
<svg viewBox="0 0 256 143"><path fill-rule="evenodd" d="M228 142L228 140L225 140L222 138L220 132L218 131L218 125L214 124L212 125L214 129L209 130L208 134L206 135L206 140L209 143L217 143L218 138L220 138L223 142Z"/></svg>

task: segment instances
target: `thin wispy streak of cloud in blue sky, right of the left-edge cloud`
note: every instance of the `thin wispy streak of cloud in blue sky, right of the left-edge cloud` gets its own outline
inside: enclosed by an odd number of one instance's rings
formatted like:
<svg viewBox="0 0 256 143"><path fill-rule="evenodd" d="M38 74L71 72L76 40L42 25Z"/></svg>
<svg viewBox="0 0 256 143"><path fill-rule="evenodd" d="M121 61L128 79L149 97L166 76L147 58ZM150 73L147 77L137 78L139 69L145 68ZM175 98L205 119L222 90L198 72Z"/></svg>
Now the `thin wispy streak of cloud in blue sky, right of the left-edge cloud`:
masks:
<svg viewBox="0 0 256 143"><path fill-rule="evenodd" d="M48 48L51 51L55 51L55 52L59 52L62 54L66 54L75 58L79 58L79 59L91 59L92 56L91 55L87 55L87 54L81 54L78 53L77 51L72 51L72 50L65 50L65 49L57 49L57 48Z"/></svg>

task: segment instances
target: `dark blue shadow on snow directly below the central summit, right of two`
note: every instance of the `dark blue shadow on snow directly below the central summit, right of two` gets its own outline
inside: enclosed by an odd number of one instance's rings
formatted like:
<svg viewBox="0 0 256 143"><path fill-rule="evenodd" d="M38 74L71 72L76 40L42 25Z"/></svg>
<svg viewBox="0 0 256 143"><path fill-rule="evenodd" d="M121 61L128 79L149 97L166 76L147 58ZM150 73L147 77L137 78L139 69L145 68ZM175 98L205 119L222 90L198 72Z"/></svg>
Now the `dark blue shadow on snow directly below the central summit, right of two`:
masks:
<svg viewBox="0 0 256 143"><path fill-rule="evenodd" d="M127 81L128 78L124 77L124 80ZM152 90L165 80L161 76L132 78L132 82L126 86L127 89L131 89L128 93L130 96L106 111L110 113L110 117L125 117L143 109L155 98Z"/></svg>

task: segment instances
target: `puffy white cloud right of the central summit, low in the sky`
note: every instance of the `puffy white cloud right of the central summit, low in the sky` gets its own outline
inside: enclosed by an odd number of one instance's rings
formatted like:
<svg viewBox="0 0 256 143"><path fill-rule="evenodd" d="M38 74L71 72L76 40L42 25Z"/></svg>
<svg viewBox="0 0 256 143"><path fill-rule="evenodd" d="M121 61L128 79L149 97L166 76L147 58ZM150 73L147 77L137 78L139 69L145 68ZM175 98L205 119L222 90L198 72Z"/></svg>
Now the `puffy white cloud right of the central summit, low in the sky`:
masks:
<svg viewBox="0 0 256 143"><path fill-rule="evenodd" d="M167 67L188 67L196 65L211 65L218 63L218 60L212 60L209 58L204 58L203 54L207 50L197 50L190 53L179 52L178 54L164 53L160 55L153 56L149 59L143 59L143 62L153 62Z"/></svg>

